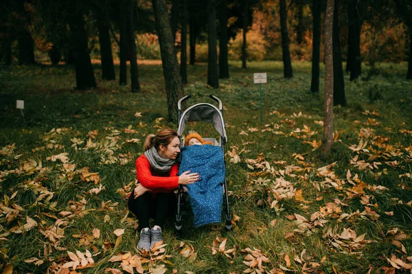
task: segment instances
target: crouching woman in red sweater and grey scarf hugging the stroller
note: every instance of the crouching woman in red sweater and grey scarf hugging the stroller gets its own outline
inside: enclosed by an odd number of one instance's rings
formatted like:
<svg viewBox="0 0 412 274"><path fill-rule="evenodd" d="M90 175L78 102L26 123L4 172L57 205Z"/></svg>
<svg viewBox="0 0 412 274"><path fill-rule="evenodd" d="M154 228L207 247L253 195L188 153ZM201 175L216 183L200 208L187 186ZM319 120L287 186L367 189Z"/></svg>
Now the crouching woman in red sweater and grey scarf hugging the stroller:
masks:
<svg viewBox="0 0 412 274"><path fill-rule="evenodd" d="M128 198L128 208L139 220L140 237L137 249L149 251L156 242L161 242L161 227L174 201L174 190L180 185L198 181L197 173L190 170L177 176L179 168L176 157L180 152L176 130L165 128L157 135L148 135L144 141L144 154L136 160L139 183ZM155 225L149 228L149 218Z"/></svg>

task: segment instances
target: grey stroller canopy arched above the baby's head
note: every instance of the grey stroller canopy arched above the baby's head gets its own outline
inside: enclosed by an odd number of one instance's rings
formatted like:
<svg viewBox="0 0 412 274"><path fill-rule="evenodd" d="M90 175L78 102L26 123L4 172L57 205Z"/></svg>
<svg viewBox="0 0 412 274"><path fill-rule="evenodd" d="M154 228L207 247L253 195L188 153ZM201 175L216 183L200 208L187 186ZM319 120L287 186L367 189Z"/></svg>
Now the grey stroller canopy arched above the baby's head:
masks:
<svg viewBox="0 0 412 274"><path fill-rule="evenodd" d="M218 131L221 137L226 136L225 122L223 121L222 113L213 104L194 104L186 109L180 119L177 133L181 136L188 122L208 122L214 124L214 128Z"/></svg>

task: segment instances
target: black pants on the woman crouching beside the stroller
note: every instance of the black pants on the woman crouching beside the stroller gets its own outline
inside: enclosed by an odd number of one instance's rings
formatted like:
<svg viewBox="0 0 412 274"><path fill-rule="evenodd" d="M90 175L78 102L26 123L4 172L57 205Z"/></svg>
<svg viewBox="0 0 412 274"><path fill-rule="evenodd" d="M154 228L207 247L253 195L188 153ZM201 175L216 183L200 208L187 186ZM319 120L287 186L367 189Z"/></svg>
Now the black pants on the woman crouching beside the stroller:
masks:
<svg viewBox="0 0 412 274"><path fill-rule="evenodd" d="M149 218L155 219L155 225L163 228L167 216L173 216L176 208L174 193L150 193L135 198L134 193L128 198L128 209L139 220L139 229L149 227Z"/></svg>

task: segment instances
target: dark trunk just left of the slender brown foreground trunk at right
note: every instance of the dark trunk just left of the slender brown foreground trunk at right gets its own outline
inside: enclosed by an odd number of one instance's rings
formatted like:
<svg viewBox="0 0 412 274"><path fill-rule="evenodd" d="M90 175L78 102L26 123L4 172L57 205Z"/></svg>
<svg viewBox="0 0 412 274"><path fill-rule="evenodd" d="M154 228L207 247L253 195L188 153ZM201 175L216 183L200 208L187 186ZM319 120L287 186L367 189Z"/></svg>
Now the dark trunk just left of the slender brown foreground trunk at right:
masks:
<svg viewBox="0 0 412 274"><path fill-rule="evenodd" d="M319 92L319 62L321 52L321 3L313 0L312 83L310 91Z"/></svg>

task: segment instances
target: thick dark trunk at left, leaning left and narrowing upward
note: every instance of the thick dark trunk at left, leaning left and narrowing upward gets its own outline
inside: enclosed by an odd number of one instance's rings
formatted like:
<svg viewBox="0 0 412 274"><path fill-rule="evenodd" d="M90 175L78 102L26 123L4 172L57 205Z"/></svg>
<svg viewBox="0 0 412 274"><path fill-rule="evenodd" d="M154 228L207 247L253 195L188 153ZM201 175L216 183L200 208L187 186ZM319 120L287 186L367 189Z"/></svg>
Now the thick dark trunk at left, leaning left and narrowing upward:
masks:
<svg viewBox="0 0 412 274"><path fill-rule="evenodd" d="M89 47L87 46L87 34L84 29L83 12L80 8L80 1L71 5L71 16L69 17L69 27L71 32L71 47L76 67L77 89L91 89L96 87L96 81L91 65Z"/></svg>

